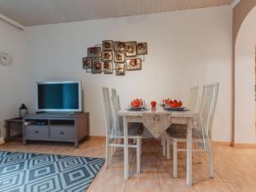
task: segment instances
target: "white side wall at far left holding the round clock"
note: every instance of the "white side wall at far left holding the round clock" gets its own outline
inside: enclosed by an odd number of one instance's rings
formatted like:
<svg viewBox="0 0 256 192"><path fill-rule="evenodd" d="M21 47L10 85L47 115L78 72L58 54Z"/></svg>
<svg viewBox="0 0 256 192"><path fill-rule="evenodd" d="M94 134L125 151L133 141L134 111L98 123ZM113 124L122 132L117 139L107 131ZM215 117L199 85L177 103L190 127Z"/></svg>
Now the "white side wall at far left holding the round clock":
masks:
<svg viewBox="0 0 256 192"><path fill-rule="evenodd" d="M0 20L0 51L13 56L12 66L0 65L0 130L4 119L19 117L22 102L26 103L26 36L25 32Z"/></svg>

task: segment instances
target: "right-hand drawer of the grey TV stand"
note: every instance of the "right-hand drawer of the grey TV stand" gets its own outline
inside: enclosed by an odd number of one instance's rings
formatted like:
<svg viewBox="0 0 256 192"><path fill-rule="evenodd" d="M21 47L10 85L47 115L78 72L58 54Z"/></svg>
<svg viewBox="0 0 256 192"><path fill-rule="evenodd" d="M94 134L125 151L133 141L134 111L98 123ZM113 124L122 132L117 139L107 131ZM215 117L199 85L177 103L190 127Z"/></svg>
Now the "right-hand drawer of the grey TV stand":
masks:
<svg viewBox="0 0 256 192"><path fill-rule="evenodd" d="M75 138L75 128L73 126L51 126L49 130L49 137L51 138Z"/></svg>

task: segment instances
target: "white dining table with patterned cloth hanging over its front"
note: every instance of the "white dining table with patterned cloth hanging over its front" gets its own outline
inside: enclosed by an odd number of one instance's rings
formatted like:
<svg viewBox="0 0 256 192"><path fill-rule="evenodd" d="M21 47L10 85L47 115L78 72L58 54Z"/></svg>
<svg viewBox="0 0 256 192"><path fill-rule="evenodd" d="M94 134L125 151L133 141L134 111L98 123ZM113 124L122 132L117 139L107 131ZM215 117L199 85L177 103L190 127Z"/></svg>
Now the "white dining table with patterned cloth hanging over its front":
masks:
<svg viewBox="0 0 256 192"><path fill-rule="evenodd" d="M128 123L143 123L154 138L160 138L172 124L187 125L187 184L192 185L192 129L198 113L189 110L172 111L160 106L144 110L122 109L118 112L124 123L125 178L129 178ZM172 126L171 126L172 127Z"/></svg>

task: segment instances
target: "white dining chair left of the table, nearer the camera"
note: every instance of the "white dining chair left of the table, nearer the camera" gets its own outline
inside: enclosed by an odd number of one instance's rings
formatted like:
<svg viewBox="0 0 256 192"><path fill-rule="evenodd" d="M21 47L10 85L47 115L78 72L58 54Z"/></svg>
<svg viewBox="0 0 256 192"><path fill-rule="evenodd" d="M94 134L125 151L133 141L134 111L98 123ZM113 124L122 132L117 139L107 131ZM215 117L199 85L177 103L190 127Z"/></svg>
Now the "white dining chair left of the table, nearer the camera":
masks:
<svg viewBox="0 0 256 192"><path fill-rule="evenodd" d="M113 104L116 102L117 97L113 96L110 99L109 89L102 87L102 96L104 103L104 113L106 121L106 163L105 166L108 168L108 160L110 158L110 153L114 153L114 150L109 150L109 148L124 148L124 143L119 143L118 141L124 139L123 130L119 125L119 117L117 115L118 105ZM140 156L141 156L141 136L143 135L143 129L137 127L129 127L128 138L136 139L136 144L129 144L129 148L137 149L137 172L140 172Z"/></svg>

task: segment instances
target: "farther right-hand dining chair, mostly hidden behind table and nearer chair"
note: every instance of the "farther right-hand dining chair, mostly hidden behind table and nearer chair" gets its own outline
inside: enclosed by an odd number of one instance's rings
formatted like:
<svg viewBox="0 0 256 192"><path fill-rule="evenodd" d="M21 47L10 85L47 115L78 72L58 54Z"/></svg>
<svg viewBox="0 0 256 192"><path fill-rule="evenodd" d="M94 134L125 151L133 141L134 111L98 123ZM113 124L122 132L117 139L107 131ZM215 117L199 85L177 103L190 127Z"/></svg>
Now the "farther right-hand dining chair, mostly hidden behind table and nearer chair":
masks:
<svg viewBox="0 0 256 192"><path fill-rule="evenodd" d="M190 88L190 93L189 93L189 102L187 105L187 108L190 111L195 111L196 107L197 107L197 97L198 97L198 90L199 90L199 86L195 86L195 87L191 87ZM180 124L173 124L172 126L175 126L177 129L179 127L183 127L184 125L180 125ZM163 136L161 137L161 145L163 147L163 156L167 156L167 160L171 159L171 154L170 154L170 143L168 143L168 141L166 142L166 137ZM167 152L167 155L166 155Z"/></svg>

